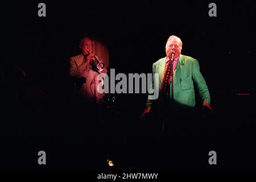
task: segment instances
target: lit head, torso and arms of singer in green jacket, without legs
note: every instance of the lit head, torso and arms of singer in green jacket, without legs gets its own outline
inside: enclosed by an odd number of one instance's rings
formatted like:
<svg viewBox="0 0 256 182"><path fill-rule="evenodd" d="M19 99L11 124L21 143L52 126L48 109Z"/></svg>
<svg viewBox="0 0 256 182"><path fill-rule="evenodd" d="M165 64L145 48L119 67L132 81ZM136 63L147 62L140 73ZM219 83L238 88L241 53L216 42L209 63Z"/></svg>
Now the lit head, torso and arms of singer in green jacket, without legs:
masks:
<svg viewBox="0 0 256 182"><path fill-rule="evenodd" d="M160 110L175 109L175 111L184 111L184 109L192 109L195 107L195 90L194 86L199 91L203 106L213 111L210 107L210 94L204 77L200 73L199 63L196 59L189 56L181 55L182 42L181 39L175 35L171 35L166 43L166 57L159 59L152 67L152 85L151 92L148 94L145 114L150 113L151 109L158 106ZM171 105L171 77L167 75L170 71L168 62L173 60L173 85L174 85L174 103ZM169 70L168 70L169 68ZM154 73L159 74L158 85L154 82ZM156 88L155 88L156 86ZM159 90L159 97L152 100L153 90ZM169 98L168 98L169 97ZM174 108L171 108L171 107ZM165 114L168 114L165 113Z"/></svg>

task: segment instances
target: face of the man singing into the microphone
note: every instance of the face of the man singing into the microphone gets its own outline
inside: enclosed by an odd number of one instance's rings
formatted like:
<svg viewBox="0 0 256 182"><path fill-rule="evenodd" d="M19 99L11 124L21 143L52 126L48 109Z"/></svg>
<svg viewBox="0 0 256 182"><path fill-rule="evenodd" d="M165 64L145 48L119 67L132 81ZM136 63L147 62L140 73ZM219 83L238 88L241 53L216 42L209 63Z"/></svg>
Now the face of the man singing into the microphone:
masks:
<svg viewBox="0 0 256 182"><path fill-rule="evenodd" d="M181 53L181 43L179 39L171 39L166 44L166 56L171 59L171 53L174 52L174 59L177 59Z"/></svg>

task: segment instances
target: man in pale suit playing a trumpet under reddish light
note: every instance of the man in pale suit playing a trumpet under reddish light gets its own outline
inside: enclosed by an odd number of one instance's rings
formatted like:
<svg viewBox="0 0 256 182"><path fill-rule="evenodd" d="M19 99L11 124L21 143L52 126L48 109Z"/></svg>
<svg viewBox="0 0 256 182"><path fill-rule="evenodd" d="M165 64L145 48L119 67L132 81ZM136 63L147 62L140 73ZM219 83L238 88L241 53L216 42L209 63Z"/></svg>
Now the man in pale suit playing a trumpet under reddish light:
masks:
<svg viewBox="0 0 256 182"><path fill-rule="evenodd" d="M106 73L105 68L97 68L98 57L93 54L93 41L84 37L81 39L79 47L80 55L69 59L69 76L75 80L75 102L84 102L86 105L98 105L102 103L104 94L97 92L97 80L99 73ZM104 66L104 63L100 64Z"/></svg>

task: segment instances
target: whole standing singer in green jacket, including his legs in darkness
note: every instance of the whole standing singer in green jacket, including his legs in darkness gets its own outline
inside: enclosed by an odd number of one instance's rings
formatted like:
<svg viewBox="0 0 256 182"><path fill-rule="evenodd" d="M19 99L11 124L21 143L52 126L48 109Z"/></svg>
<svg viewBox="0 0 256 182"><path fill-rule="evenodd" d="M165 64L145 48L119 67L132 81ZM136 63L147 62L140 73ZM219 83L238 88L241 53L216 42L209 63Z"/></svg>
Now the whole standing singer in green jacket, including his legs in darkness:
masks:
<svg viewBox="0 0 256 182"><path fill-rule="evenodd" d="M161 162L166 162L164 167L177 167L186 169L195 161L194 148L198 144L197 133L199 121L195 112L195 88L199 92L202 105L210 112L210 94L204 77L201 75L199 63L196 59L181 55L183 43L177 36L170 36L166 43L166 57L159 59L152 66L152 73L159 74L159 85L151 85L151 94L148 94L146 109L141 118L155 110L155 120L163 122L161 137L156 145L160 149ZM171 78L171 61L173 61ZM174 85L174 100L172 102L171 82ZM152 100L154 89L159 90L159 97ZM160 143L160 144L159 144ZM157 147L156 147L157 148ZM164 154L164 155L163 155ZM170 158L166 160L164 158ZM170 163L168 163L168 161ZM171 165L171 166L170 166Z"/></svg>

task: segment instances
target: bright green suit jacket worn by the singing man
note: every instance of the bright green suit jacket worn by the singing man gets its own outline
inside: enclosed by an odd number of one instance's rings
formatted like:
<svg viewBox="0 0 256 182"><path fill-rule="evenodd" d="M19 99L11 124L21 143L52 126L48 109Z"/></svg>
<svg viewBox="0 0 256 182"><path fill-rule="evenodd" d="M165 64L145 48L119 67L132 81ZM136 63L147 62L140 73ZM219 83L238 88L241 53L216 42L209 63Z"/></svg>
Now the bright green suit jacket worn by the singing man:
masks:
<svg viewBox="0 0 256 182"><path fill-rule="evenodd" d="M157 100L151 100L150 97L152 94L148 94L147 109L151 108L156 103L161 105L168 100L168 96L164 97L161 90L165 64L166 57L163 57L152 66L153 79L150 93L153 92L155 86L158 86L156 89L159 90L159 97ZM158 85L155 85L154 73L159 73ZM199 92L201 100L210 104L209 90L204 77L201 75L198 61L192 57L180 55L174 71L174 105L176 107L195 107L195 87ZM169 93L171 101L171 92Z"/></svg>

